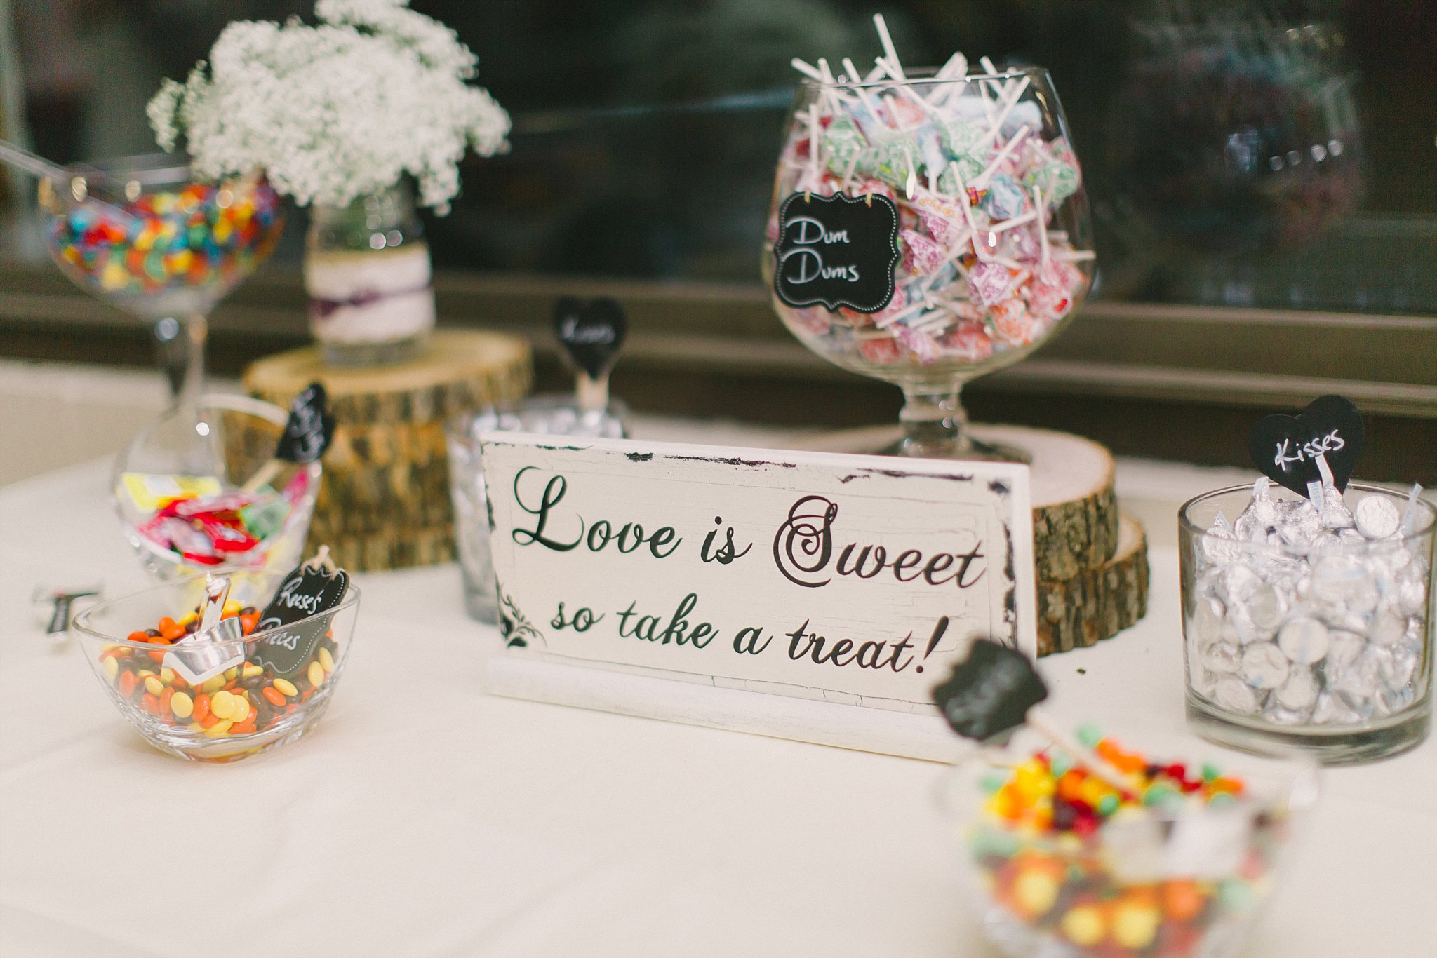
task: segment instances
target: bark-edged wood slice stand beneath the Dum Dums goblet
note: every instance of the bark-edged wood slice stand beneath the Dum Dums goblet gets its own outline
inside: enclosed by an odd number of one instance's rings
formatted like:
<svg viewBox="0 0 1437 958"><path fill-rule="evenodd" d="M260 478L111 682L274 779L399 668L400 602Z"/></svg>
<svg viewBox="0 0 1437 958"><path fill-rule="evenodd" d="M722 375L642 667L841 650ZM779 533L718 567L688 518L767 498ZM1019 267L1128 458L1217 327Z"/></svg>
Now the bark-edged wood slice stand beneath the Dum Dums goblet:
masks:
<svg viewBox="0 0 1437 958"><path fill-rule="evenodd" d="M1118 517L1112 454L1069 432L973 425L986 442L1033 455L1033 554L1038 572L1038 654L1092 645L1147 612L1148 546L1142 526ZM798 448L872 452L902 437L895 425L806 437Z"/></svg>

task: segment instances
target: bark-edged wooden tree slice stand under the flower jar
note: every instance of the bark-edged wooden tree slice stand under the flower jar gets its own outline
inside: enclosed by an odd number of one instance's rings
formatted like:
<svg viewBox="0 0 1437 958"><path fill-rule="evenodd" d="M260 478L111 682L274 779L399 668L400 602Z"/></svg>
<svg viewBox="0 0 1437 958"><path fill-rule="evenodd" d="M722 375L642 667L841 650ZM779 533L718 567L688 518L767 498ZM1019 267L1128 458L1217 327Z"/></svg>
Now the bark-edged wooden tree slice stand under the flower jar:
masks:
<svg viewBox="0 0 1437 958"><path fill-rule="evenodd" d="M244 388L279 406L325 383L335 438L309 526L351 570L402 569L454 557L444 424L529 392L527 343L479 330L435 330L421 356L392 366L326 366L308 346L244 371Z"/></svg>

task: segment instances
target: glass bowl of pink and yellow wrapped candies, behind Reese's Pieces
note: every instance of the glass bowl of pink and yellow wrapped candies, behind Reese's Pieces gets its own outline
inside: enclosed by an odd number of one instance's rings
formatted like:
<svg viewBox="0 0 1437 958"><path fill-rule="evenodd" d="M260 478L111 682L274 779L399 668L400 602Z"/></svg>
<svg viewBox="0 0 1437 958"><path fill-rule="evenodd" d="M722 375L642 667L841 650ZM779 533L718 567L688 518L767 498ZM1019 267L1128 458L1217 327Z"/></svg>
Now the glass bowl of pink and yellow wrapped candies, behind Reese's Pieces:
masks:
<svg viewBox="0 0 1437 958"><path fill-rule="evenodd" d="M299 560L322 465L273 460L286 418L269 402L207 395L162 415L119 454L115 506L149 572L285 572Z"/></svg>

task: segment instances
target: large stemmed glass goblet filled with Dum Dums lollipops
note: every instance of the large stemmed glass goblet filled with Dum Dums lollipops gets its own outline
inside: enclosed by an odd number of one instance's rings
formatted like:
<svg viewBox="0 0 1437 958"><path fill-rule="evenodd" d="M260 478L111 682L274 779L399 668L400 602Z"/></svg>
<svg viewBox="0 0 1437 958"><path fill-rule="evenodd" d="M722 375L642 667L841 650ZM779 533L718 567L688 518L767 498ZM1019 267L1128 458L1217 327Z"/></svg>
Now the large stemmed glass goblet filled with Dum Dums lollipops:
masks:
<svg viewBox="0 0 1437 958"><path fill-rule="evenodd" d="M805 346L902 388L892 451L1026 460L966 435L958 392L1042 346L1092 284L1066 119L1042 68L895 60L865 75L795 62L809 76L779 157L764 280Z"/></svg>

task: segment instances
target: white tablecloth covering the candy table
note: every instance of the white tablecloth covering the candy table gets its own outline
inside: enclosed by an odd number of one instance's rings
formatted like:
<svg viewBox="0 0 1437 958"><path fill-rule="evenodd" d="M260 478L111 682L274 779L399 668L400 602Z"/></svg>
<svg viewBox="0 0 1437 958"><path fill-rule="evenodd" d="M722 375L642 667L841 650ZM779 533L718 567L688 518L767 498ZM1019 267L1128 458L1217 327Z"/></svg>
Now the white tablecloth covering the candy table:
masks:
<svg viewBox="0 0 1437 958"><path fill-rule="evenodd" d="M6 454L13 454L6 451ZM234 766L149 750L37 583L145 585L92 462L0 488L0 955L989 955L934 764L500 699L454 566L362 575L318 731ZM1119 465L1147 619L1046 659L1053 711L1183 727L1177 503ZM1437 954L1437 744L1329 771L1262 958Z"/></svg>

